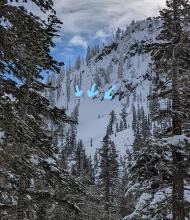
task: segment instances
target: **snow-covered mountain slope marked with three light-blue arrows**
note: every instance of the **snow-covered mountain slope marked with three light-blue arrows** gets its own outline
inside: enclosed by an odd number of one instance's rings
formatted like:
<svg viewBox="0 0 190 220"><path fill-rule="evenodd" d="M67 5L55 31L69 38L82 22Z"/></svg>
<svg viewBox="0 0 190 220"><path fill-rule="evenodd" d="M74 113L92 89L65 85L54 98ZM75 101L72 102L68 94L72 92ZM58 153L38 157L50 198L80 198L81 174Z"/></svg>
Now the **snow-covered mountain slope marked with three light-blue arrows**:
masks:
<svg viewBox="0 0 190 220"><path fill-rule="evenodd" d="M128 128L112 135L118 151L121 154L133 143L132 131L132 104L143 106L148 112L147 96L149 94L151 81L148 80L148 73L151 71L150 55L142 53L139 49L143 43L156 41L159 33L160 21L147 19L132 22L119 39L105 46L96 54L88 65L83 64L80 70L72 70L65 73L62 70L60 76L53 75L49 81L58 85L59 89L53 94L55 104L59 107L66 107L68 114L71 114L79 103L79 125L77 136L82 139L88 154L94 154L96 148L100 147L106 127L110 119L110 112L114 110L117 119L120 119L121 109L127 107ZM68 72L68 71L67 71ZM106 74L106 78L104 77ZM96 83L99 75L99 95L95 99L87 96L87 90L93 83ZM81 78L81 86L79 81ZM77 83L76 83L77 82ZM68 86L69 83L69 86ZM75 96L75 86L83 91L80 98ZM112 85L116 85L113 92L113 100L104 100L104 92ZM70 99L68 100L68 87ZM119 96L120 94L120 96ZM90 140L93 145L90 147Z"/></svg>

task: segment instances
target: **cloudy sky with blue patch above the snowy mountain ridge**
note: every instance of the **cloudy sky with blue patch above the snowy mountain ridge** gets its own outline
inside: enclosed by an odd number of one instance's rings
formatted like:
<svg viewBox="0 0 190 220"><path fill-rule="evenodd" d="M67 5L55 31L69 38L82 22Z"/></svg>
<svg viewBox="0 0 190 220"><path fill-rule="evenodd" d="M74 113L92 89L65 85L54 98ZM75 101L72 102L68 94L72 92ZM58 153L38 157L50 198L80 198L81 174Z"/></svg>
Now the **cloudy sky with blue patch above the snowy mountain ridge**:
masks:
<svg viewBox="0 0 190 220"><path fill-rule="evenodd" d="M53 53L66 63L84 54L88 44L104 42L115 29L125 28L132 20L157 16L165 0L54 0L63 21L61 36Z"/></svg>

